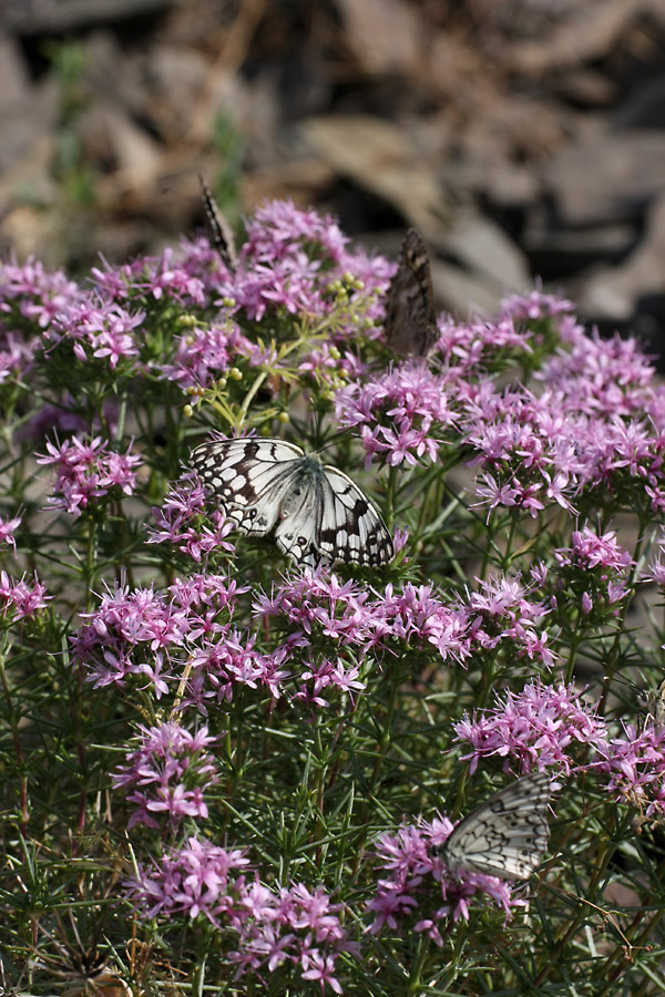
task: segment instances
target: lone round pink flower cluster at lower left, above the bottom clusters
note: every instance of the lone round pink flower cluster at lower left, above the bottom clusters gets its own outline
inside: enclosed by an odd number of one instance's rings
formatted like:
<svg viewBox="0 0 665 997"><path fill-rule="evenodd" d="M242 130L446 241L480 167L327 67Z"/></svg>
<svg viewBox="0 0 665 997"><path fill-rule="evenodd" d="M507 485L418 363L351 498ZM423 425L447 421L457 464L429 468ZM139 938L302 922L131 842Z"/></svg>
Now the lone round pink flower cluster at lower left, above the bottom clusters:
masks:
<svg viewBox="0 0 665 997"><path fill-rule="evenodd" d="M195 734L177 723L139 728L137 748L127 752L126 762L113 774L114 789L122 788L135 809L129 822L161 826L157 816L168 818L173 829L184 816L206 819L204 790L219 777L215 759L204 749L213 746L207 727Z"/></svg>

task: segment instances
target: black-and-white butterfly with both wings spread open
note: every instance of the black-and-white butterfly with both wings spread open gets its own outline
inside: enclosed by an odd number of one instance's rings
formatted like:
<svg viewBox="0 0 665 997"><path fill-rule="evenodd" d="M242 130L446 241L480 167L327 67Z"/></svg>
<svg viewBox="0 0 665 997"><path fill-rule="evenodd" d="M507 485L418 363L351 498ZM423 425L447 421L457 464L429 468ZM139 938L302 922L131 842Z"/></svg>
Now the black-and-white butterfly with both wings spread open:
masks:
<svg viewBox="0 0 665 997"><path fill-rule="evenodd" d="M386 524L358 485L293 443L208 441L192 452L192 466L238 530L274 532L298 564L376 567L395 555Z"/></svg>

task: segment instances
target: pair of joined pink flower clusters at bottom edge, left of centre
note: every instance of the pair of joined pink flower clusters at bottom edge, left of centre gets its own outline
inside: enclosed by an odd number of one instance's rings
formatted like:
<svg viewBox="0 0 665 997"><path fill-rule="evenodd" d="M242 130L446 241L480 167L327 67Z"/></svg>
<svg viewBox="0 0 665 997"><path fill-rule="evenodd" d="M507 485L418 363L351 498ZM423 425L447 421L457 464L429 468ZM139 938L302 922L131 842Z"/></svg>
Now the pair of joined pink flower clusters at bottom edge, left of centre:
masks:
<svg viewBox="0 0 665 997"><path fill-rule="evenodd" d="M257 877L248 878L248 866L239 849L190 837L152 868L142 868L132 893L144 917L172 919L180 914L212 922L226 943L236 979L249 972L260 978L287 964L298 966L304 980L318 983L321 993L327 984L341 994L338 956L356 952L346 938L341 906L321 887L309 891L294 883L269 890Z"/></svg>

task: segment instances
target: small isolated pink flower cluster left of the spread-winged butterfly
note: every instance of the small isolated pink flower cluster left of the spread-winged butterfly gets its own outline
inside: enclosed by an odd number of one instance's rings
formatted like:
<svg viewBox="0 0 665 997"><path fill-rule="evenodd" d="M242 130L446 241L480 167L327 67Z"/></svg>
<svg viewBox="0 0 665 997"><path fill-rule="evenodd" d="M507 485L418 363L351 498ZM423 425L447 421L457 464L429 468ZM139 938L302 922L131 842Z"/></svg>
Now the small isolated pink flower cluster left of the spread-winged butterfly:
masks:
<svg viewBox="0 0 665 997"><path fill-rule="evenodd" d="M55 470L51 508L64 508L73 516L99 505L99 500L115 494L132 495L136 487L135 469L143 463L136 454L116 453L106 446L101 436L81 440L72 436L63 443L47 442L48 454L37 459L38 464L50 464ZM115 493L115 494L114 494Z"/></svg>

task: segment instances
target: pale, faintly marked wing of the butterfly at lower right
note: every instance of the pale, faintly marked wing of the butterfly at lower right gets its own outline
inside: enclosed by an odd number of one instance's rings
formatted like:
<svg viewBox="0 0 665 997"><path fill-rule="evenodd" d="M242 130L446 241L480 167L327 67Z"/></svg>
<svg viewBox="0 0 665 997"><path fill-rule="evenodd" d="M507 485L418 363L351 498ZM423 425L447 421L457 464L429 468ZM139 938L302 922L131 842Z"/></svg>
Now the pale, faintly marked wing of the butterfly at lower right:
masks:
<svg viewBox="0 0 665 997"><path fill-rule="evenodd" d="M550 837L550 785L546 772L534 772L485 800L446 841L441 854L448 868L528 878L540 865Z"/></svg>

